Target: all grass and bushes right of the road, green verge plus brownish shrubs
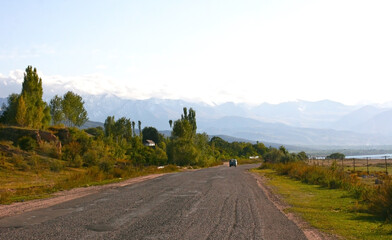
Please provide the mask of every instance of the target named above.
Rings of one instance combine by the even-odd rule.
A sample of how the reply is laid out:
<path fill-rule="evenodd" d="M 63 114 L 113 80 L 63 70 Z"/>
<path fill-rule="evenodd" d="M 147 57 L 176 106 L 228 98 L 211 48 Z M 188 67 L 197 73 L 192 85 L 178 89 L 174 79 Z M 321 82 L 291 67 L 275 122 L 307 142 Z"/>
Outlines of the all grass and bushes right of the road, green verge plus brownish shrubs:
<path fill-rule="evenodd" d="M 288 211 L 300 213 L 313 226 L 347 239 L 390 239 L 391 177 L 377 167 L 354 171 L 353 166 L 341 165 L 343 161 L 348 163 L 288 160 L 283 149 L 275 149 L 255 171 L 292 206 Z"/>

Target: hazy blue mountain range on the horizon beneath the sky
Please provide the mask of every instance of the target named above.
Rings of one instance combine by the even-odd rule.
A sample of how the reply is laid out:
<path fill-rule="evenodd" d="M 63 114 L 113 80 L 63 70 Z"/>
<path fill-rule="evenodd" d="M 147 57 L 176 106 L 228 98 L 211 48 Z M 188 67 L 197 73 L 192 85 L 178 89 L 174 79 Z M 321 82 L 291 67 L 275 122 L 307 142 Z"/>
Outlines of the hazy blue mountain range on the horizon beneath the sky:
<path fill-rule="evenodd" d="M 107 116 L 124 116 L 140 120 L 143 126 L 168 130 L 169 120 L 179 119 L 184 107 L 192 107 L 198 131 L 209 135 L 297 146 L 392 145 L 389 107 L 349 106 L 329 100 L 210 105 L 156 98 L 131 100 L 109 94 L 85 95 L 83 100 L 89 119 L 100 123 Z M 0 98 L 2 102 L 6 99 Z"/>

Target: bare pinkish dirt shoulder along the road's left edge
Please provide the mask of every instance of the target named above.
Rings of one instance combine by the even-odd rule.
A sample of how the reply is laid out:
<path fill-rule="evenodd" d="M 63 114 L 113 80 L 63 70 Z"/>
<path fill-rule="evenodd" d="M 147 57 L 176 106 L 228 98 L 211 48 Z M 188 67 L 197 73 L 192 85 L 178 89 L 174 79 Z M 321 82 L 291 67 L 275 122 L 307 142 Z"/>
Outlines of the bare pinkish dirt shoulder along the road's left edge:
<path fill-rule="evenodd" d="M 131 178 L 122 182 L 111 183 L 111 184 L 106 184 L 101 186 L 74 188 L 71 190 L 57 192 L 53 194 L 53 197 L 47 199 L 37 199 L 37 200 L 32 200 L 27 202 L 17 202 L 10 205 L 0 205 L 0 218 L 14 216 L 23 212 L 29 212 L 40 208 L 51 207 L 53 205 L 62 202 L 84 197 L 106 189 L 124 187 L 138 182 L 157 178 L 162 175 L 164 175 L 164 173 Z"/>

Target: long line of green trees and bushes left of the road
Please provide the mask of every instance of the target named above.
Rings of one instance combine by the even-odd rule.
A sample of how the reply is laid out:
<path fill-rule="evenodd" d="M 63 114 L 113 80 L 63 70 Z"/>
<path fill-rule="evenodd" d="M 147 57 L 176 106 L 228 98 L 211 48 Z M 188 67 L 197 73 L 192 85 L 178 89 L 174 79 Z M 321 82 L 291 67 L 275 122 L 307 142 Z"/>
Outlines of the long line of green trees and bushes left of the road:
<path fill-rule="evenodd" d="M 197 132 L 196 111 L 186 107 L 179 119 L 169 121 L 170 136 L 160 134 L 152 126 L 142 128 L 141 121 L 125 116 L 119 119 L 108 116 L 103 127 L 80 130 L 75 127 L 88 120 L 81 96 L 69 91 L 63 96 L 54 96 L 47 104 L 42 95 L 42 79 L 35 68 L 28 66 L 22 91 L 8 97 L 0 122 L 49 129 L 59 137 L 63 146 L 57 158 L 70 167 L 99 167 L 109 173 L 126 171 L 130 166 L 211 166 L 222 160 L 250 156 L 271 162 L 306 158 L 305 153 L 289 153 L 284 147 L 275 149 L 262 143 L 229 143 L 219 137 L 210 139 L 206 133 Z M 62 133 L 63 128 L 67 134 Z M 155 146 L 146 146 L 147 140 L 155 142 Z"/>

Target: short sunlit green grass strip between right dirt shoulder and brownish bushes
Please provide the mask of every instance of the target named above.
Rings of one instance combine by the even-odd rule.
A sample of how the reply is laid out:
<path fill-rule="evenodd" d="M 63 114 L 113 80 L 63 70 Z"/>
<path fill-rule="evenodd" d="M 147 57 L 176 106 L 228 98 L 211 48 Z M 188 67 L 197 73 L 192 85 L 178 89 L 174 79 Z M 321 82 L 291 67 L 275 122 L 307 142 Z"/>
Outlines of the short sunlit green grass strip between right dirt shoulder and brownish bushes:
<path fill-rule="evenodd" d="M 366 213 L 366 207 L 345 190 L 304 184 L 271 169 L 253 171 L 266 176 L 274 191 L 292 206 L 287 211 L 321 231 L 344 239 L 392 239 L 392 224 Z"/>

